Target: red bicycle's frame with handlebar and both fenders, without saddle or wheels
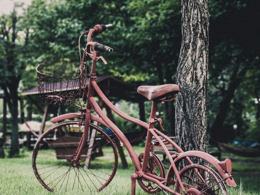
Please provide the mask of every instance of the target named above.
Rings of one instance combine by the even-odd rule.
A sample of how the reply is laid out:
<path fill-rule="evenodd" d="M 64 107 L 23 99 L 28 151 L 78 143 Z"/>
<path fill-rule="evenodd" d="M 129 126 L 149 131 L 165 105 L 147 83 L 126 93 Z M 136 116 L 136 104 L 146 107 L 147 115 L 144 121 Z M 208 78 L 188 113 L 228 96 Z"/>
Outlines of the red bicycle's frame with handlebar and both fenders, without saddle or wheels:
<path fill-rule="evenodd" d="M 91 120 L 94 120 L 98 123 L 101 123 L 105 125 L 106 127 L 110 128 L 111 131 L 117 136 L 117 138 L 121 141 L 121 143 L 125 146 L 127 149 L 131 159 L 132 163 L 134 164 L 136 172 L 132 174 L 131 179 L 132 179 L 132 194 L 135 194 L 135 183 L 136 179 L 145 179 L 147 181 L 153 182 L 156 184 L 159 188 L 168 191 L 173 194 L 180 194 L 174 191 L 173 189 L 170 189 L 168 186 L 164 185 L 164 183 L 168 182 L 168 178 L 170 177 L 169 174 L 175 174 L 176 175 L 176 180 L 179 182 L 179 185 L 181 189 L 183 190 L 184 193 L 186 193 L 185 188 L 183 186 L 183 183 L 181 182 L 180 175 L 178 173 L 177 167 L 176 167 L 176 162 L 186 159 L 189 164 L 192 164 L 192 161 L 189 159 L 189 156 L 198 156 L 206 161 L 208 161 L 210 164 L 212 164 L 216 169 L 219 171 L 221 176 L 223 177 L 223 180 L 227 183 L 228 186 L 236 186 L 235 181 L 232 179 L 232 176 L 230 175 L 231 171 L 231 161 L 222 161 L 220 162 L 217 160 L 215 157 L 200 152 L 200 151 L 188 151 L 184 152 L 175 142 L 173 142 L 170 138 L 168 138 L 166 135 L 164 135 L 162 132 L 158 131 L 157 129 L 154 128 L 154 123 L 158 122 L 155 119 L 155 113 L 157 109 L 157 104 L 158 102 L 153 101 L 152 104 L 152 109 L 151 109 L 151 114 L 149 118 L 149 123 L 145 123 L 141 120 L 138 120 L 136 118 L 133 118 L 131 116 L 128 116 L 124 112 L 120 111 L 117 109 L 105 96 L 105 94 L 102 93 L 101 89 L 98 87 L 95 79 L 96 79 L 96 64 L 99 59 L 102 59 L 104 63 L 106 63 L 105 59 L 103 57 L 98 57 L 98 51 L 94 50 L 94 43 L 92 42 L 92 34 L 98 33 L 101 31 L 100 27 L 98 25 L 95 26 L 92 30 L 88 32 L 88 44 L 85 49 L 86 53 L 91 53 L 91 49 L 95 52 L 93 55 L 89 55 L 89 57 L 92 58 L 92 68 L 91 68 L 91 73 L 89 74 L 89 85 L 88 85 L 88 91 L 87 91 L 87 103 L 86 103 L 86 115 L 85 115 L 85 126 L 84 126 L 84 134 L 83 137 L 81 138 L 80 145 L 77 149 L 76 152 L 76 158 L 74 159 L 74 164 L 73 166 L 77 166 L 77 163 L 80 159 L 80 154 L 84 148 L 84 145 L 87 141 L 88 138 L 88 129 L 89 129 L 89 124 Z M 101 31 L 102 32 L 102 31 Z M 100 33 L 100 32 L 99 32 Z M 82 79 L 84 80 L 84 78 Z M 145 143 L 145 148 L 144 148 L 144 154 L 143 154 L 143 163 L 141 164 L 137 154 L 135 153 L 131 143 L 128 141 L 128 139 L 125 137 L 125 135 L 122 133 L 122 131 L 102 112 L 102 109 L 99 107 L 98 103 L 94 99 L 94 91 L 97 92 L 98 96 L 103 100 L 103 102 L 111 109 L 113 110 L 117 115 L 121 116 L 122 118 L 132 122 L 136 123 L 139 126 L 142 126 L 147 129 L 147 138 L 146 138 L 146 143 Z M 84 94 L 86 91 L 84 91 Z M 85 94 L 86 95 L 86 94 Z M 91 112 L 95 110 L 95 112 L 98 114 L 98 116 L 94 116 L 91 114 Z M 58 116 L 55 117 L 52 122 L 57 122 L 61 119 L 65 118 L 72 118 L 75 116 L 79 116 L 78 114 L 67 114 L 63 116 Z M 166 178 L 162 178 L 156 175 L 153 175 L 151 173 L 147 172 L 147 167 L 148 167 L 148 160 L 150 156 L 150 149 L 151 149 L 151 142 L 152 142 L 152 137 L 155 137 L 159 144 L 162 146 L 162 148 L 165 151 L 165 154 L 168 156 L 168 159 L 170 161 L 170 169 L 167 174 Z M 175 153 L 174 155 L 171 155 L 166 148 L 165 144 L 162 142 L 162 140 L 159 138 L 159 136 L 162 136 L 166 141 L 168 141 L 170 144 L 172 144 L 178 151 L 179 153 Z M 173 160 L 175 158 L 175 160 Z M 201 176 L 200 176 L 201 177 Z M 201 177 L 202 178 L 202 177 Z"/>

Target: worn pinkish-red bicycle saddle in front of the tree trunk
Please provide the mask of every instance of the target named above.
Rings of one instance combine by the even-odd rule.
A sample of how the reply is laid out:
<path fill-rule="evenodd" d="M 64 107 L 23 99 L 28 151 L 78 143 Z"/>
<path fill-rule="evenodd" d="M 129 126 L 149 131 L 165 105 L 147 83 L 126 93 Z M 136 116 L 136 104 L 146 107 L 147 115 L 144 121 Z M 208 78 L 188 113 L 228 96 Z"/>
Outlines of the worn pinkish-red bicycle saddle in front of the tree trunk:
<path fill-rule="evenodd" d="M 163 99 L 167 96 L 177 95 L 179 86 L 175 84 L 166 84 L 158 86 L 139 86 L 137 92 L 148 100 Z"/>

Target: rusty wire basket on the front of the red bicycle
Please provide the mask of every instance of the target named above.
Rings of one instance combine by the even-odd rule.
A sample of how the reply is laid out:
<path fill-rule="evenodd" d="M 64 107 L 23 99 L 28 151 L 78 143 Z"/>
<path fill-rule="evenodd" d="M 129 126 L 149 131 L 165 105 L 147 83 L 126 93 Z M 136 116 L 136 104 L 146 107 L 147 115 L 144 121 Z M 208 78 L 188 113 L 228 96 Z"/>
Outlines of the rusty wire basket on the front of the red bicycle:
<path fill-rule="evenodd" d="M 36 70 L 38 91 L 46 103 L 72 102 L 80 98 L 82 78 L 79 66 L 69 61 L 44 62 Z"/>

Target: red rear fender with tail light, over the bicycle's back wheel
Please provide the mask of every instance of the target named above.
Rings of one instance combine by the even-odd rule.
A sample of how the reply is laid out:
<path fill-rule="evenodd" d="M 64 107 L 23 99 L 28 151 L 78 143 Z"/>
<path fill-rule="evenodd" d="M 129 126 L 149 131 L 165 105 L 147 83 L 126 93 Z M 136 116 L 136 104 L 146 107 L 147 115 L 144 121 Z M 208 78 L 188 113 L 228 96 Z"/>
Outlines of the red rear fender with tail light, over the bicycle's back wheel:
<path fill-rule="evenodd" d="M 222 168 L 222 167 L 224 167 L 223 164 L 226 165 L 227 162 L 231 163 L 231 161 L 229 159 L 225 160 L 225 161 L 219 161 L 217 158 L 215 158 L 214 156 L 211 156 L 208 153 L 205 153 L 205 152 L 202 152 L 202 151 L 191 150 L 191 151 L 187 151 L 187 152 L 184 152 L 184 153 L 180 153 L 176 157 L 176 159 L 174 159 L 174 163 L 178 164 L 180 160 L 182 160 L 186 157 L 189 157 L 189 156 L 195 156 L 195 157 L 199 157 L 203 160 L 206 160 L 207 162 L 212 164 L 217 169 L 217 171 L 220 173 L 220 175 L 225 180 L 225 182 L 228 186 L 236 187 L 236 182 L 235 182 L 234 178 L 232 177 L 232 175 L 230 173 L 228 173 L 227 170 L 224 170 L 224 168 Z M 228 164 L 228 166 L 231 166 L 231 164 Z M 228 170 L 230 170 L 230 168 L 228 168 Z M 168 174 L 169 174 L 169 172 L 168 172 Z M 168 178 L 168 174 L 167 174 L 167 178 Z"/>

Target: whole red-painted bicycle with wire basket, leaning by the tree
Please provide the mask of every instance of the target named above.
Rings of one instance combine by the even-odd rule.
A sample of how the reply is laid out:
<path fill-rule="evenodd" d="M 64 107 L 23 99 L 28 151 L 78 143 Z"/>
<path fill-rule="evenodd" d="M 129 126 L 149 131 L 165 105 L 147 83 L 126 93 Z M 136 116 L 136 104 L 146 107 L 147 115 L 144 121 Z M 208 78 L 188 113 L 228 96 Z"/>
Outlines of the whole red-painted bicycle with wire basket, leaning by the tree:
<path fill-rule="evenodd" d="M 100 51 L 111 53 L 113 49 L 93 42 L 92 38 L 108 26 L 110 25 L 96 25 L 82 34 L 87 35 L 87 46 L 84 49 L 84 57 L 80 57 L 79 75 L 73 81 L 58 84 L 45 82 L 44 78 L 48 75 L 44 73 L 43 64 L 37 67 L 39 92 L 47 101 L 62 102 L 82 98 L 86 102 L 85 106 L 80 106 L 80 113 L 69 113 L 52 119 L 53 123 L 59 123 L 39 137 L 32 156 L 33 170 L 39 182 L 50 191 L 101 191 L 116 173 L 116 146 L 121 143 L 135 167 L 135 173 L 131 175 L 132 194 L 135 194 L 136 180 L 145 192 L 151 194 L 159 191 L 179 195 L 228 194 L 225 183 L 227 186 L 236 186 L 230 174 L 231 160 L 219 161 L 201 151 L 184 152 L 173 140 L 154 128 L 155 123 L 161 127 L 162 122 L 156 118 L 157 105 L 176 100 L 179 92 L 177 85 L 139 86 L 138 93 L 153 101 L 148 123 L 121 112 L 102 93 L 96 83 L 96 64 L 99 59 L 106 64 L 105 59 L 99 56 Z M 90 73 L 87 73 L 87 59 L 92 60 Z M 147 129 L 143 153 L 136 154 L 122 131 L 102 111 L 94 94 L 98 94 L 103 102 L 122 118 Z M 60 122 L 72 118 L 77 120 Z M 97 126 L 98 123 L 110 132 Z M 169 144 L 176 149 L 175 152 L 168 150 Z M 154 145 L 162 147 L 169 159 L 169 167 L 164 166 L 153 153 L 151 146 Z M 206 164 L 194 164 L 191 159 L 195 158 L 204 160 Z M 184 163 L 186 166 L 178 171 L 179 165 Z"/>

